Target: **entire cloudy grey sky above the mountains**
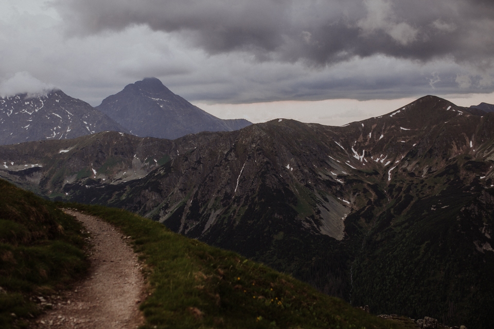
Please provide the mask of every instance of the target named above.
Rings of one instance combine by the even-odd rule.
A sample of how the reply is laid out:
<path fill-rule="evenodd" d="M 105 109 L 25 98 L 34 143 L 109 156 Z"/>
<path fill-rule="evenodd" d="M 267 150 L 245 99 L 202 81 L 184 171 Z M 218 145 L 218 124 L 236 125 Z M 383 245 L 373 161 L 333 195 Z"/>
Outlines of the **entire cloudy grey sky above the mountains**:
<path fill-rule="evenodd" d="M 223 118 L 343 124 L 494 103 L 492 0 L 0 0 L 0 94 L 145 77 Z"/>

